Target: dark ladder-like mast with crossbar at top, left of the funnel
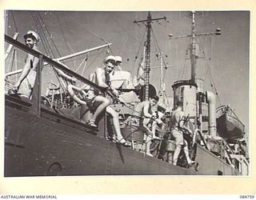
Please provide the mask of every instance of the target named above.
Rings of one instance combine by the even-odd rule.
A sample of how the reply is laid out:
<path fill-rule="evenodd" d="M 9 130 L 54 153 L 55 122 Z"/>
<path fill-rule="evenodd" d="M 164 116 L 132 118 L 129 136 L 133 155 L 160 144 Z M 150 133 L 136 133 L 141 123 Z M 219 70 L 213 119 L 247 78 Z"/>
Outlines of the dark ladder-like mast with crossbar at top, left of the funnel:
<path fill-rule="evenodd" d="M 148 12 L 147 19 L 146 20 L 139 20 L 139 21 L 134 21 L 134 23 L 139 23 L 139 22 L 146 22 L 146 66 L 144 67 L 144 84 L 145 84 L 145 90 L 143 94 L 144 100 L 149 100 L 149 85 L 150 85 L 150 38 L 151 38 L 151 23 L 154 21 L 158 21 L 164 18 L 152 18 L 150 12 Z"/>

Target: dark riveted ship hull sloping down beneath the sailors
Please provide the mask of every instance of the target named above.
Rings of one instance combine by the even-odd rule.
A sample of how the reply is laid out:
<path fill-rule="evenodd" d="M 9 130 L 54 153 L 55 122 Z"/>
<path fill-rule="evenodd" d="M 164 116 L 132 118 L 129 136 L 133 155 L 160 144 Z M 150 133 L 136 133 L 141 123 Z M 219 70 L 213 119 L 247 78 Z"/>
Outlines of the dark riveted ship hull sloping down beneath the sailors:
<path fill-rule="evenodd" d="M 22 101 L 21 101 L 22 102 Z M 16 106 L 15 106 L 16 105 Z M 223 160 L 197 148 L 198 170 L 173 166 L 89 133 L 82 124 L 42 108 L 6 99 L 6 177 L 54 175 L 234 175 Z"/>

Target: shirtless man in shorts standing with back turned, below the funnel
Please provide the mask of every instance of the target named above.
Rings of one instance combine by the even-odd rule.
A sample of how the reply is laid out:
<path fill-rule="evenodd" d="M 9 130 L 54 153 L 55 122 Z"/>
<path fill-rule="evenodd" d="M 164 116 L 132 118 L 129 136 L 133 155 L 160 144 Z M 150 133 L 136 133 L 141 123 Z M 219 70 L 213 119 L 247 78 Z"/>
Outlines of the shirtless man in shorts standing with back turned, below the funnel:
<path fill-rule="evenodd" d="M 189 131 L 190 133 L 191 133 L 191 130 L 186 128 L 186 126 L 184 125 L 183 119 L 185 118 L 185 116 L 182 111 L 182 106 L 183 106 L 182 102 L 177 102 L 176 106 L 177 106 L 176 110 L 174 110 L 170 116 L 170 122 L 172 124 L 170 133 L 175 138 L 175 144 L 176 144 L 176 147 L 174 150 L 173 164 L 174 164 L 174 166 L 177 165 L 178 155 L 180 154 L 180 152 L 182 150 L 182 146 L 184 146 L 183 150 L 184 150 L 184 154 L 186 156 L 186 161 L 190 165 L 193 162 L 190 159 L 187 142 L 183 138 L 182 129 L 185 129 L 185 130 Z"/>

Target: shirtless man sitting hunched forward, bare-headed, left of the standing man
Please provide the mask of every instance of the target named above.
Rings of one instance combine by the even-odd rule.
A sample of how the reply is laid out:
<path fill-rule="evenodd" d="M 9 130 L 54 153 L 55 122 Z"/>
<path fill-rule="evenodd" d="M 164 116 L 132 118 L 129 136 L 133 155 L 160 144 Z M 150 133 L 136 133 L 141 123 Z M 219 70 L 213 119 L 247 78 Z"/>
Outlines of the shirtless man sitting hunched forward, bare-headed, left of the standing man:
<path fill-rule="evenodd" d="M 155 118 L 152 114 L 152 106 L 156 105 L 158 100 L 158 96 L 154 95 L 152 98 L 150 98 L 150 101 L 139 102 L 138 105 L 135 106 L 134 112 L 130 119 L 132 131 L 142 130 L 144 133 L 146 133 L 146 154 L 151 157 L 153 157 L 153 155 L 150 154 L 150 144 L 151 139 L 155 138 L 155 135 L 149 129 L 148 124 L 150 119 L 155 120 L 158 124 L 162 124 L 161 119 Z"/>

